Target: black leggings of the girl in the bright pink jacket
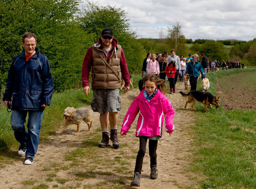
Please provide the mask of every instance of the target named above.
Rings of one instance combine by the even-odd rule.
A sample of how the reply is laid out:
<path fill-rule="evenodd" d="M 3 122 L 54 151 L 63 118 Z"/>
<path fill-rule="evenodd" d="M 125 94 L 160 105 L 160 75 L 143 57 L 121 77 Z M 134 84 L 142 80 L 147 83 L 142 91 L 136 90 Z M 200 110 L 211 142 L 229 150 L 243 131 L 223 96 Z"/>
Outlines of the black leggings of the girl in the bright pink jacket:
<path fill-rule="evenodd" d="M 143 158 L 146 152 L 146 145 L 147 145 L 147 136 L 140 136 L 140 150 L 138 151 L 136 164 L 134 172 L 140 172 L 142 169 Z M 149 156 L 150 156 L 150 165 L 157 164 L 157 142 L 158 140 L 150 140 L 148 141 L 148 149 L 149 149 Z"/>

